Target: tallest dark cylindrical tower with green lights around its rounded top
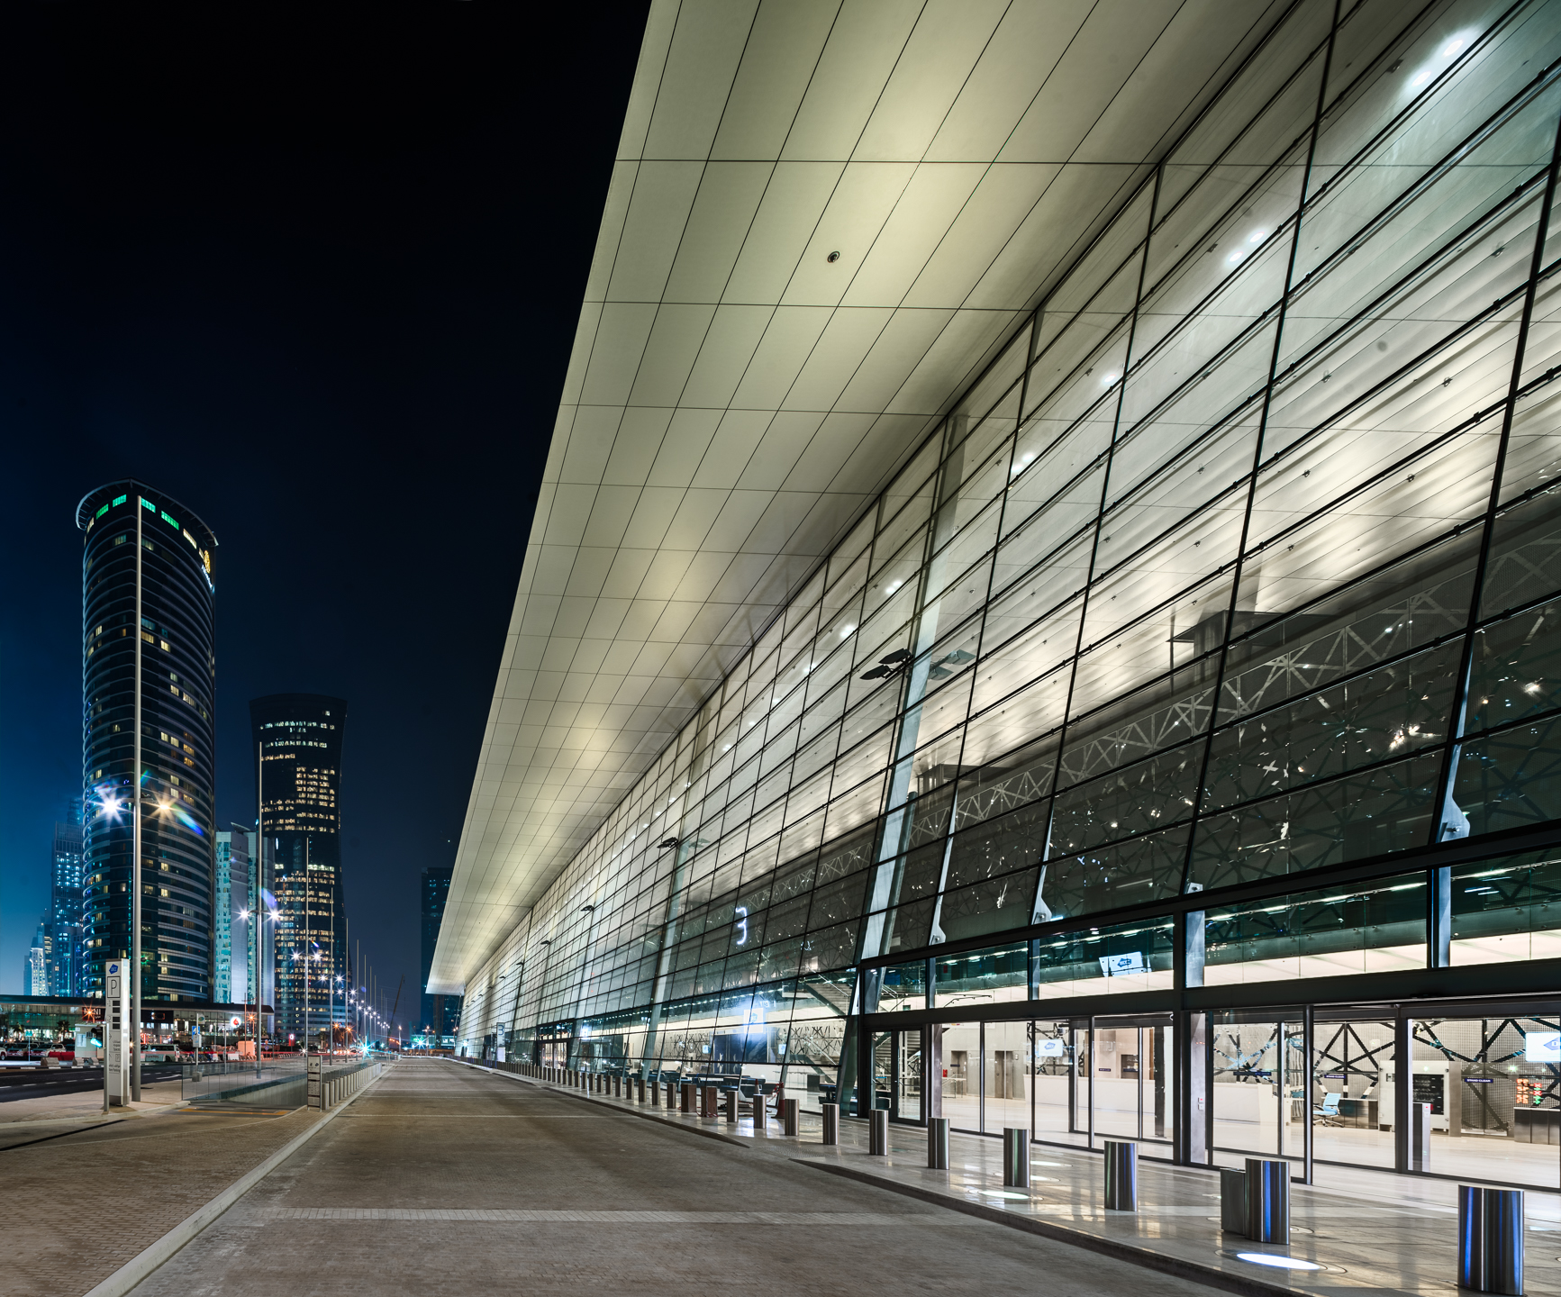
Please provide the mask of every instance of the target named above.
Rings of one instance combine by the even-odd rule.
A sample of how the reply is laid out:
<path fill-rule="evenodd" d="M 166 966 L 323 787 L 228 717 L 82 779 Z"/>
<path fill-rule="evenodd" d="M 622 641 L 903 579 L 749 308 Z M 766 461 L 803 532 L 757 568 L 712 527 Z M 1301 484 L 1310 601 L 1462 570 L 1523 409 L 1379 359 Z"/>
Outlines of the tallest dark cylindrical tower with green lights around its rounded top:
<path fill-rule="evenodd" d="M 76 526 L 86 537 L 83 991 L 101 994 L 103 961 L 131 954 L 139 827 L 142 999 L 204 1000 L 217 538 L 176 499 L 136 481 L 89 492 Z"/>

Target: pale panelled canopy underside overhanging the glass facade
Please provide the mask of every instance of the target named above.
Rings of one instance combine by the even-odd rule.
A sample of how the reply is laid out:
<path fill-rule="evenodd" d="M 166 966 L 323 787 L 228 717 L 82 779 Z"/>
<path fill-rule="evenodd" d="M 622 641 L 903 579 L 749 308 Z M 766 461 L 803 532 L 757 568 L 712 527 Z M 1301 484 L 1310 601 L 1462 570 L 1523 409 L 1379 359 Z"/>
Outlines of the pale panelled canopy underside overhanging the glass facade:
<path fill-rule="evenodd" d="M 465 991 L 1282 11 L 656 0 L 429 993 Z"/>

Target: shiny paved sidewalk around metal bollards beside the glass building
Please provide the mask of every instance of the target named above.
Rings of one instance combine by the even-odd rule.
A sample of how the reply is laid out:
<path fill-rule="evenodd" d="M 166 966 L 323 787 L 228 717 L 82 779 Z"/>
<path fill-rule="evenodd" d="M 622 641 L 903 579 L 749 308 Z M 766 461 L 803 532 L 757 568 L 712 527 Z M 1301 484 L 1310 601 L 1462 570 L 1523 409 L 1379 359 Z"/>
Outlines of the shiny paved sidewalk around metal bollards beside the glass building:
<path fill-rule="evenodd" d="M 816 1114 L 804 1114 L 801 1135 L 785 1138 L 773 1118 L 756 1132 L 746 1116 L 735 1124 L 724 1118 L 684 1116 L 510 1072 L 495 1075 L 587 1103 L 628 1108 L 652 1121 L 745 1144 L 763 1158 L 799 1161 L 821 1174 L 891 1188 L 1091 1250 L 1135 1256 L 1154 1269 L 1200 1277 L 1222 1288 L 1314 1294 L 1371 1288 L 1424 1294 L 1456 1286 L 1456 1183 L 1449 1180 L 1333 1167 L 1327 1186 L 1293 1186 L 1288 1247 L 1252 1244 L 1221 1233 L 1219 1177 L 1207 1169 L 1141 1160 L 1140 1210 L 1105 1211 L 1101 1206 L 1104 1161 L 1082 1149 L 1032 1144 L 1030 1189 L 1005 1189 L 1002 1141 L 996 1138 L 951 1135 L 951 1169 L 930 1171 L 921 1127 L 891 1125 L 888 1157 L 869 1157 L 866 1122 L 862 1121 L 843 1119 L 841 1142 L 826 1147 Z M 1561 1297 L 1561 1200 L 1556 1194 L 1530 1192 L 1527 1216 L 1527 1292 Z M 1243 1260 L 1243 1253 L 1319 1269 L 1283 1269 Z"/>

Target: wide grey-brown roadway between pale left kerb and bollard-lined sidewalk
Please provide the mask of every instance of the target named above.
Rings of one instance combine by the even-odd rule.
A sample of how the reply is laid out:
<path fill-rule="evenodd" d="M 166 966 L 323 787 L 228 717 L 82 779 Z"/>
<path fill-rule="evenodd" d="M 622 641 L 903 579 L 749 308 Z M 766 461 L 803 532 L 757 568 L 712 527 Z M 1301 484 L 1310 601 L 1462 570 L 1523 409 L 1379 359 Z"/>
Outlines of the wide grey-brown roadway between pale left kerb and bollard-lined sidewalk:
<path fill-rule="evenodd" d="M 1193 1283 L 567 1094 L 406 1060 L 136 1297 L 980 1292 Z"/>

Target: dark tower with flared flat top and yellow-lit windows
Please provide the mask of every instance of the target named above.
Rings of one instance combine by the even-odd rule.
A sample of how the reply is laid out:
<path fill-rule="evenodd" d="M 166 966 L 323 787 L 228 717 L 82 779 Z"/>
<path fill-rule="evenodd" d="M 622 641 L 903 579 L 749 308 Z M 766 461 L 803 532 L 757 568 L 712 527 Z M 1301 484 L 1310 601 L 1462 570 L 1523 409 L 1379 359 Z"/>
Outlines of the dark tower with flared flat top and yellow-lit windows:
<path fill-rule="evenodd" d="M 318 1036 L 328 1021 L 347 1021 L 340 815 L 347 702 L 318 693 L 256 698 L 250 724 L 261 833 L 276 858 L 276 1032 L 303 1041 L 306 1033 Z"/>

